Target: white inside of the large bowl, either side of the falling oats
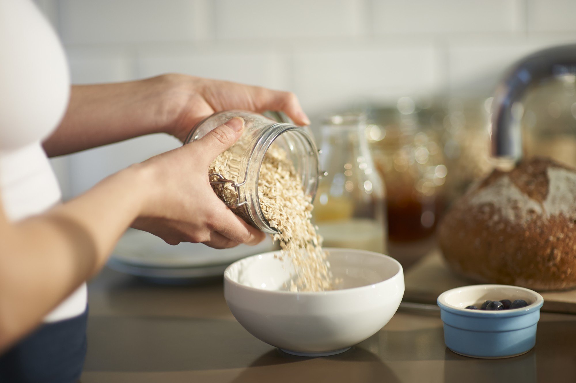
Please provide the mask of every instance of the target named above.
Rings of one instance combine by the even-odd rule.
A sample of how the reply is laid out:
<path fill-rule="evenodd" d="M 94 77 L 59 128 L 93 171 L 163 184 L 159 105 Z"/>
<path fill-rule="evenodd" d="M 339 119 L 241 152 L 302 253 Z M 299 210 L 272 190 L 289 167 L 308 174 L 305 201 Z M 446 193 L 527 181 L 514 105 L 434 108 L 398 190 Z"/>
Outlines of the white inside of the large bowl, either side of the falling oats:
<path fill-rule="evenodd" d="M 330 270 L 340 282 L 336 290 L 376 284 L 401 271 L 395 259 L 372 251 L 327 248 Z M 287 291 L 294 269 L 289 259 L 275 258 L 279 251 L 249 256 L 230 265 L 225 278 L 256 289 Z"/>

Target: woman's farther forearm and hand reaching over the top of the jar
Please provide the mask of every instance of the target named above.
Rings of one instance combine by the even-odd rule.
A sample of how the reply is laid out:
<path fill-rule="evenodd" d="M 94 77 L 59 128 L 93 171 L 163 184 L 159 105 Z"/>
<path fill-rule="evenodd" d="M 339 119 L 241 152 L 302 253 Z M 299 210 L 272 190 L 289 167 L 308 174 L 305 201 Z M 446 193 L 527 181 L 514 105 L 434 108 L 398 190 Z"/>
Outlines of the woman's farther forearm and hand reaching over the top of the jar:
<path fill-rule="evenodd" d="M 282 110 L 297 124 L 310 123 L 293 93 L 168 74 L 73 86 L 66 114 L 44 150 L 58 156 L 162 132 L 183 141 L 196 122 L 230 109 Z"/>

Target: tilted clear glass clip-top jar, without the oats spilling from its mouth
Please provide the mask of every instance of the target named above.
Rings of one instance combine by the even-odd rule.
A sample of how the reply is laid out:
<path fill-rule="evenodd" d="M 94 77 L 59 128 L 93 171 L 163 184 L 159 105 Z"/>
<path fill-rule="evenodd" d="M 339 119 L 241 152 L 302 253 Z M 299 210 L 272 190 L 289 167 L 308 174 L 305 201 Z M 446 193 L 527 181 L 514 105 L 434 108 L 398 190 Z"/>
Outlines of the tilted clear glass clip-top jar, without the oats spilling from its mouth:
<path fill-rule="evenodd" d="M 221 174 L 211 173 L 210 183 L 217 185 L 214 189 L 218 197 L 247 223 L 263 232 L 278 233 L 264 216 L 258 197 L 258 178 L 264 155 L 271 145 L 278 145 L 286 151 L 300 176 L 305 196 L 313 200 L 320 174 L 316 144 L 308 129 L 287 122 L 289 120 L 282 114 L 276 113 L 275 117 L 284 121 L 278 122 L 243 110 L 218 112 L 199 122 L 184 144 L 202 138 L 233 117 L 244 118 L 244 132 L 228 149 L 231 154 L 228 163 L 230 175 L 225 178 Z"/>

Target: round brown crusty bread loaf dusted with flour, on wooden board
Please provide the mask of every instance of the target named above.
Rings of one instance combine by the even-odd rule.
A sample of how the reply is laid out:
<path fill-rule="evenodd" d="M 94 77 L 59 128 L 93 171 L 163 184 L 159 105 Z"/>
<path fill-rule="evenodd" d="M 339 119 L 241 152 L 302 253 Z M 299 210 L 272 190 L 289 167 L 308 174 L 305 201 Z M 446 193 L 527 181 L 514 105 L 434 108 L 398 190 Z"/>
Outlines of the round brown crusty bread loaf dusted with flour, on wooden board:
<path fill-rule="evenodd" d="M 576 287 L 576 169 L 551 159 L 494 170 L 438 227 L 450 268 L 482 283 Z"/>

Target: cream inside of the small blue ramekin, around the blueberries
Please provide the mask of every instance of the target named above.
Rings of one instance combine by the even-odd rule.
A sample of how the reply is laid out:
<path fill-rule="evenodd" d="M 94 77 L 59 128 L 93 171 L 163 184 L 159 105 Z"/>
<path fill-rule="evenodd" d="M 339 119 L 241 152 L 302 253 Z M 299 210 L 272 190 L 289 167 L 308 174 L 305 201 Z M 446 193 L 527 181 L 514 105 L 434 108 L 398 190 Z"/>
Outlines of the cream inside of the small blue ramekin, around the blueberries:
<path fill-rule="evenodd" d="M 445 305 L 464 309 L 469 305 L 480 307 L 487 300 L 498 301 L 503 299 L 509 299 L 510 301 L 523 299 L 528 305 L 532 305 L 541 301 L 542 297 L 532 290 L 518 286 L 473 285 L 448 290 L 441 294 L 438 301 Z"/>

